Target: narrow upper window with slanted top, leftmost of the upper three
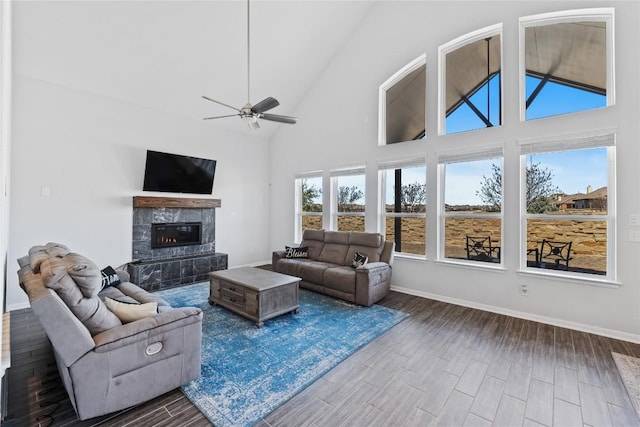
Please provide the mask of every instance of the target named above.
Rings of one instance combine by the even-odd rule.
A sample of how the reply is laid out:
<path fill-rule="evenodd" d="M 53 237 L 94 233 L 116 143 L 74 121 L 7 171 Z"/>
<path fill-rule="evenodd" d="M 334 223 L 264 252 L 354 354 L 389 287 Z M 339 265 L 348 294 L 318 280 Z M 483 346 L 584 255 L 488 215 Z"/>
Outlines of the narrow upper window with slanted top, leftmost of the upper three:
<path fill-rule="evenodd" d="M 425 138 L 426 55 L 380 86 L 379 145 Z"/>

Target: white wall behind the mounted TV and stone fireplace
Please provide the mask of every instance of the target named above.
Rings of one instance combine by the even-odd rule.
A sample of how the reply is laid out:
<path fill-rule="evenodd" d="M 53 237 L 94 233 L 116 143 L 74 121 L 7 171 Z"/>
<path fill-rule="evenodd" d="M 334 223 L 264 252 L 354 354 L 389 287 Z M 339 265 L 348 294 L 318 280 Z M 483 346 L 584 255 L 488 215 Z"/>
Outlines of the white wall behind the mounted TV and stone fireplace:
<path fill-rule="evenodd" d="M 147 149 L 218 160 L 216 250 L 230 266 L 269 259 L 268 141 L 21 74 L 13 87 L 9 271 L 49 241 L 98 266 L 130 261 L 132 197 L 143 195 Z M 8 278 L 7 302 L 20 307 L 17 276 Z"/>

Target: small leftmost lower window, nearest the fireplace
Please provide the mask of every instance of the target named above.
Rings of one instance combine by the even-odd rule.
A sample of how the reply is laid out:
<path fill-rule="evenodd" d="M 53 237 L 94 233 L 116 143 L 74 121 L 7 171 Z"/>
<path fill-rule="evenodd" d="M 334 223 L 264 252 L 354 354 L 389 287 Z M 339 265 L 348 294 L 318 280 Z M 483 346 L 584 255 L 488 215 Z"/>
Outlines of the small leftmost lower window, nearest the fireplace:
<path fill-rule="evenodd" d="M 296 179 L 296 241 L 302 240 L 307 228 L 322 228 L 322 176 L 309 175 Z"/>

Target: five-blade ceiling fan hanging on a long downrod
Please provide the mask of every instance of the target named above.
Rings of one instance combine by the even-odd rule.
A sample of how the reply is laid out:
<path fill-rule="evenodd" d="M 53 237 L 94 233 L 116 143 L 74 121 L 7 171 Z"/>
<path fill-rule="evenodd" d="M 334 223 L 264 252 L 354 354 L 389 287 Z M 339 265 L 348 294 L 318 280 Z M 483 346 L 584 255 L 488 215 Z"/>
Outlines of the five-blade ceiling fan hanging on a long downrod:
<path fill-rule="evenodd" d="M 287 124 L 295 124 L 298 121 L 297 117 L 291 116 L 282 116 L 280 114 L 270 114 L 267 111 L 277 107 L 280 105 L 277 99 L 272 97 L 267 97 L 262 101 L 258 102 L 256 105 L 251 105 L 251 92 L 250 92 L 250 78 L 251 78 L 251 44 L 250 44 L 250 25 L 249 25 L 249 0 L 247 0 L 247 103 L 242 108 L 232 107 L 231 105 L 225 104 L 224 102 L 216 101 L 215 99 L 203 96 L 207 101 L 215 102 L 216 104 L 224 105 L 225 107 L 231 108 L 232 110 L 237 111 L 237 114 L 229 114 L 225 116 L 216 116 L 216 117 L 206 117 L 204 120 L 211 119 L 222 119 L 225 117 L 234 117 L 239 116 L 242 120 L 246 121 L 249 124 L 249 128 L 251 130 L 258 129 L 260 124 L 258 123 L 258 119 L 269 120 L 272 122 L 279 123 L 287 123 Z"/>

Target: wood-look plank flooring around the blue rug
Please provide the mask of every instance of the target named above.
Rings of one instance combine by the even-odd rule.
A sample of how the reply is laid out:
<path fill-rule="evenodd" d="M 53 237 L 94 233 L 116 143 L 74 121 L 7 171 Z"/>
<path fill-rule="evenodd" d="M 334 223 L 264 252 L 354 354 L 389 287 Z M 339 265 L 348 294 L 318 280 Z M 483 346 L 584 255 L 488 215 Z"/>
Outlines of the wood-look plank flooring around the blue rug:
<path fill-rule="evenodd" d="M 392 292 L 410 317 L 262 420 L 264 426 L 640 426 L 611 351 L 640 345 Z M 78 421 L 30 310 L 11 314 L 5 424 L 204 426 L 179 391 Z"/>

